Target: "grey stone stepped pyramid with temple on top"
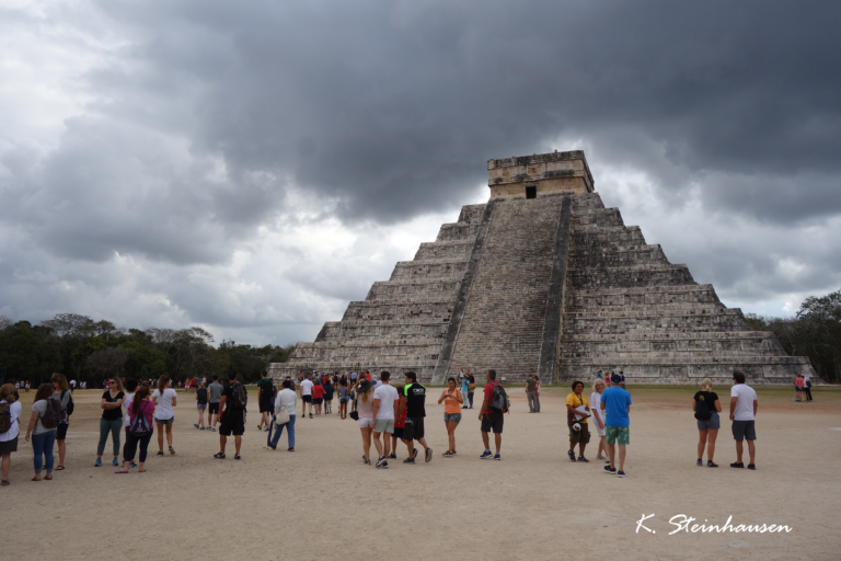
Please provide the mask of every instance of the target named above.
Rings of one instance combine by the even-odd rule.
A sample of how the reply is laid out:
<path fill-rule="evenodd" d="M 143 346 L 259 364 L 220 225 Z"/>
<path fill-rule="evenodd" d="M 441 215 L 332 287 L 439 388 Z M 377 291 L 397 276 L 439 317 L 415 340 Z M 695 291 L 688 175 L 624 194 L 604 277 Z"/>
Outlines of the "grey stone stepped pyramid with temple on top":
<path fill-rule="evenodd" d="M 631 382 L 729 383 L 734 370 L 751 383 L 791 383 L 797 371 L 817 379 L 808 358 L 752 331 L 712 285 L 604 208 L 583 151 L 487 169 L 486 204 L 462 207 L 272 375 L 413 370 L 442 383 L 464 366 L 508 382 L 591 379 L 599 369 Z"/>

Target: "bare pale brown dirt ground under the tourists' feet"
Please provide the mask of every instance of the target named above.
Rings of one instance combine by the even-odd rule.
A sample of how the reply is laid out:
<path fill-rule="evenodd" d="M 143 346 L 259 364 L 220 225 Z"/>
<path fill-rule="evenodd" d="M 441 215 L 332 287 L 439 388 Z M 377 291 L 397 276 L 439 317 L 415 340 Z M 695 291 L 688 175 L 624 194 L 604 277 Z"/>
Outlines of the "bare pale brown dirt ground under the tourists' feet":
<path fill-rule="evenodd" d="M 285 436 L 284 451 L 266 449 L 266 433 L 250 413 L 243 459 L 234 461 L 229 448 L 228 459 L 215 460 L 218 435 L 193 428 L 193 398 L 180 394 L 177 454 L 150 455 L 149 471 L 129 476 L 93 467 L 101 392 L 77 391 L 67 470 L 34 483 L 23 437 L 12 455 L 12 484 L 0 488 L 0 551 L 10 561 L 839 559 L 839 388 L 815 389 L 809 404 L 795 403 L 787 388 L 759 388 L 757 471 L 727 467 L 735 461 L 729 422 L 715 455 L 722 467 L 695 467 L 693 388 L 629 389 L 624 479 L 603 473 L 592 443 L 590 463 L 566 458 L 566 388 L 545 388 L 540 414 L 528 414 L 522 388 L 509 390 L 502 461 L 479 459 L 477 409 L 457 431 L 458 457 L 441 458 L 447 433 L 442 407 L 434 404 L 440 389 L 430 389 L 426 431 L 435 458 L 392 460 L 388 470 L 362 466 L 359 430 L 335 414 L 299 414 L 296 451 L 287 453 Z M 24 412 L 32 396 L 22 396 Z M 401 460 L 405 454 L 400 449 Z M 650 514 L 645 526 L 656 534 L 637 533 L 637 520 Z M 718 525 L 731 515 L 734 525 L 792 531 L 669 535 L 676 515 Z"/>

